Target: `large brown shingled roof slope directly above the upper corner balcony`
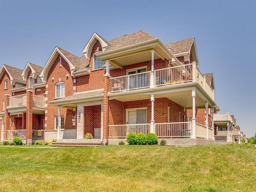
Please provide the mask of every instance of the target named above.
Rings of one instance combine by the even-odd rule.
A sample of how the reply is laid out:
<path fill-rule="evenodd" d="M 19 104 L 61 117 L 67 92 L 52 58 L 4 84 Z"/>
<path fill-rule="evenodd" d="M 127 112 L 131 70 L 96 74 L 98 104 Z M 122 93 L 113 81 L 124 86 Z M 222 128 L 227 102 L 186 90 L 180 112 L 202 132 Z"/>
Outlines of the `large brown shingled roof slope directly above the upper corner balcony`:
<path fill-rule="evenodd" d="M 144 42 L 144 41 L 155 39 L 155 38 L 156 37 L 152 36 L 146 31 L 140 30 L 135 33 L 126 34 L 121 37 L 116 37 L 108 41 L 110 44 L 110 47 L 106 48 L 106 51 L 115 50 L 125 46 L 138 44 L 139 42 Z"/>

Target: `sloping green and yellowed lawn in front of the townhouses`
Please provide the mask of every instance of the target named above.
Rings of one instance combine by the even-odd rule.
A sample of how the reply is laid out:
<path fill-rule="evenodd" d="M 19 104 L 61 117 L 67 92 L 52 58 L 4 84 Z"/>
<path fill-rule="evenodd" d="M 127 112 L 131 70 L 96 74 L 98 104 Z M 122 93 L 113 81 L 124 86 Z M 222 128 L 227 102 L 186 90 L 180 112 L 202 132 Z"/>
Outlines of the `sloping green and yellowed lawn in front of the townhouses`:
<path fill-rule="evenodd" d="M 248 145 L 0 146 L 0 191 L 255 191 Z"/>

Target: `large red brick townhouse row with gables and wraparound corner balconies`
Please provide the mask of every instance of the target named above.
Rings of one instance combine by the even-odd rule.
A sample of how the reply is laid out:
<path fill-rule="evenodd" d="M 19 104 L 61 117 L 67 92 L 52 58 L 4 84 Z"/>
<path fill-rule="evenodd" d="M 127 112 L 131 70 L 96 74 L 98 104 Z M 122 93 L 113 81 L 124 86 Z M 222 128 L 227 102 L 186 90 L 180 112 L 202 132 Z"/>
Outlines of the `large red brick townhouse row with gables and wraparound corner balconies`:
<path fill-rule="evenodd" d="M 200 71 L 195 38 L 94 33 L 82 56 L 55 47 L 44 68 L 3 65 L 0 79 L 1 140 L 82 143 L 91 133 L 90 142 L 117 144 L 142 132 L 168 144 L 214 142 L 214 78 Z"/>

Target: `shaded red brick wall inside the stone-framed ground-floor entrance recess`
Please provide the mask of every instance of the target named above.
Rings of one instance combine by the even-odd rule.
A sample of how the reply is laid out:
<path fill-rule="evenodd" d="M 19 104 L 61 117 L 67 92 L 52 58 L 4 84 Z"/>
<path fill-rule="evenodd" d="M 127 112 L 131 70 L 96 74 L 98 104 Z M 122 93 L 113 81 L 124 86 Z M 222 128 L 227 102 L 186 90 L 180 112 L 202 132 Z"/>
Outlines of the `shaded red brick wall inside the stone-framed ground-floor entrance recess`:
<path fill-rule="evenodd" d="M 91 133 L 101 126 L 101 105 L 84 106 L 84 134 Z"/>

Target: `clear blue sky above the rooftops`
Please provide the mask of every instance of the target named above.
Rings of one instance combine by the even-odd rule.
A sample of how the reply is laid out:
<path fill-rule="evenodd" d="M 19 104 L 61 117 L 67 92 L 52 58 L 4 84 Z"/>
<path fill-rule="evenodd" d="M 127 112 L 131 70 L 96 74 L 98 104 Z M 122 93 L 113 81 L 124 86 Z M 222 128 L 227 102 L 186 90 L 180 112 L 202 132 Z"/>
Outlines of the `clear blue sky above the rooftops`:
<path fill-rule="evenodd" d="M 255 1 L 0 0 L 0 63 L 44 66 L 55 46 L 78 56 L 93 32 L 140 29 L 173 42 L 195 37 L 201 70 L 214 72 L 216 101 L 247 136 L 256 132 Z"/>

